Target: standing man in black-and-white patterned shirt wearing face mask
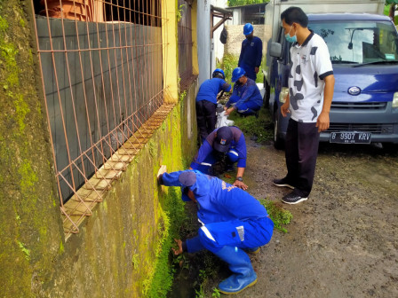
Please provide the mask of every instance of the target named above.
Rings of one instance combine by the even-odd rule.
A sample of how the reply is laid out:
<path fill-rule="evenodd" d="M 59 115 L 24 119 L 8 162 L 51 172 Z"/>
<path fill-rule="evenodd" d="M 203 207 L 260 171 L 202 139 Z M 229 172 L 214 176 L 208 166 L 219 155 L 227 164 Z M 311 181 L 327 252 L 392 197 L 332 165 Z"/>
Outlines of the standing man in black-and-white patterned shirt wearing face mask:
<path fill-rule="evenodd" d="M 289 94 L 281 106 L 283 117 L 289 113 L 291 119 L 285 139 L 288 173 L 274 184 L 293 189 L 282 201 L 297 204 L 307 200 L 313 186 L 320 132 L 329 128 L 334 76 L 328 46 L 307 28 L 306 13 L 290 7 L 281 20 L 286 40 L 293 43 Z"/>

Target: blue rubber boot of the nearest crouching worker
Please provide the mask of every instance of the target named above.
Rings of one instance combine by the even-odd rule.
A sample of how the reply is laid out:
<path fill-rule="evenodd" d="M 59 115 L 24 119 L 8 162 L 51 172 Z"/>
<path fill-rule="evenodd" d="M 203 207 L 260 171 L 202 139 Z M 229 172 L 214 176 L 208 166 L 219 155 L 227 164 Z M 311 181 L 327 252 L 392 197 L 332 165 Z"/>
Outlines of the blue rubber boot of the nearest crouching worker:
<path fill-rule="evenodd" d="M 253 286 L 257 282 L 257 274 L 251 266 L 251 259 L 242 249 L 222 247 L 214 255 L 227 262 L 229 270 L 234 273 L 219 283 L 219 292 L 223 294 L 238 294 L 246 287 Z"/>

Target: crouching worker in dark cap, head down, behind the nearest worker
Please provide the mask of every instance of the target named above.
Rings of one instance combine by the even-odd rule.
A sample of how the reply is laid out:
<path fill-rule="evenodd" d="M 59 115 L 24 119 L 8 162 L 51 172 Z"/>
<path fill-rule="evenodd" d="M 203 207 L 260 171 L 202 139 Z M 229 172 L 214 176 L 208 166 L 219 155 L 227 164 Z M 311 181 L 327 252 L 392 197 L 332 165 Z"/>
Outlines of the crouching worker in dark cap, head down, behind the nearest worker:
<path fill-rule="evenodd" d="M 203 174 L 214 175 L 213 167 L 218 161 L 226 159 L 225 170 L 232 171 L 237 162 L 237 174 L 234 185 L 247 190 L 243 183 L 246 168 L 246 141 L 241 129 L 235 126 L 223 126 L 214 129 L 203 141 L 198 153 L 192 161 L 190 169 L 197 169 Z"/>

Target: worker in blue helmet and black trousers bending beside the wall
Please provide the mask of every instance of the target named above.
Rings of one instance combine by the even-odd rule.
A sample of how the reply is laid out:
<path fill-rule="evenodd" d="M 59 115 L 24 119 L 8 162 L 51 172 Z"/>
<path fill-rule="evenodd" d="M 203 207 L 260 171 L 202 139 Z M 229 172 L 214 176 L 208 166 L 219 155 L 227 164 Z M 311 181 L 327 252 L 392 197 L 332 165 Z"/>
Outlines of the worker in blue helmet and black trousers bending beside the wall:
<path fill-rule="evenodd" d="M 231 85 L 225 81 L 224 71 L 217 68 L 210 80 L 204 81 L 196 95 L 196 122 L 199 136 L 203 141 L 216 128 L 217 95 L 219 92 L 231 90 Z"/>

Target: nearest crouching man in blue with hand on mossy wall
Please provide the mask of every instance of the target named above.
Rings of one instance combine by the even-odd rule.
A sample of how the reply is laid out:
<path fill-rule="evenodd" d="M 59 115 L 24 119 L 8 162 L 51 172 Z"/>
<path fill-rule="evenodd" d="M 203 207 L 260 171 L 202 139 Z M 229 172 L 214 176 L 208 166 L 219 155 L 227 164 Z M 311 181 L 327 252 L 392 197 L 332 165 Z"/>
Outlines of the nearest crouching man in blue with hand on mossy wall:
<path fill-rule="evenodd" d="M 174 255 L 208 249 L 227 262 L 233 274 L 219 283 L 223 294 L 237 294 L 253 286 L 257 274 L 243 250 L 256 252 L 271 239 L 274 223 L 266 208 L 248 192 L 195 170 L 169 174 L 161 169 L 158 180 L 166 186 L 180 186 L 182 200 L 197 204 L 197 217 L 203 224 L 195 238 L 176 239 L 179 248 L 173 249 Z"/>

